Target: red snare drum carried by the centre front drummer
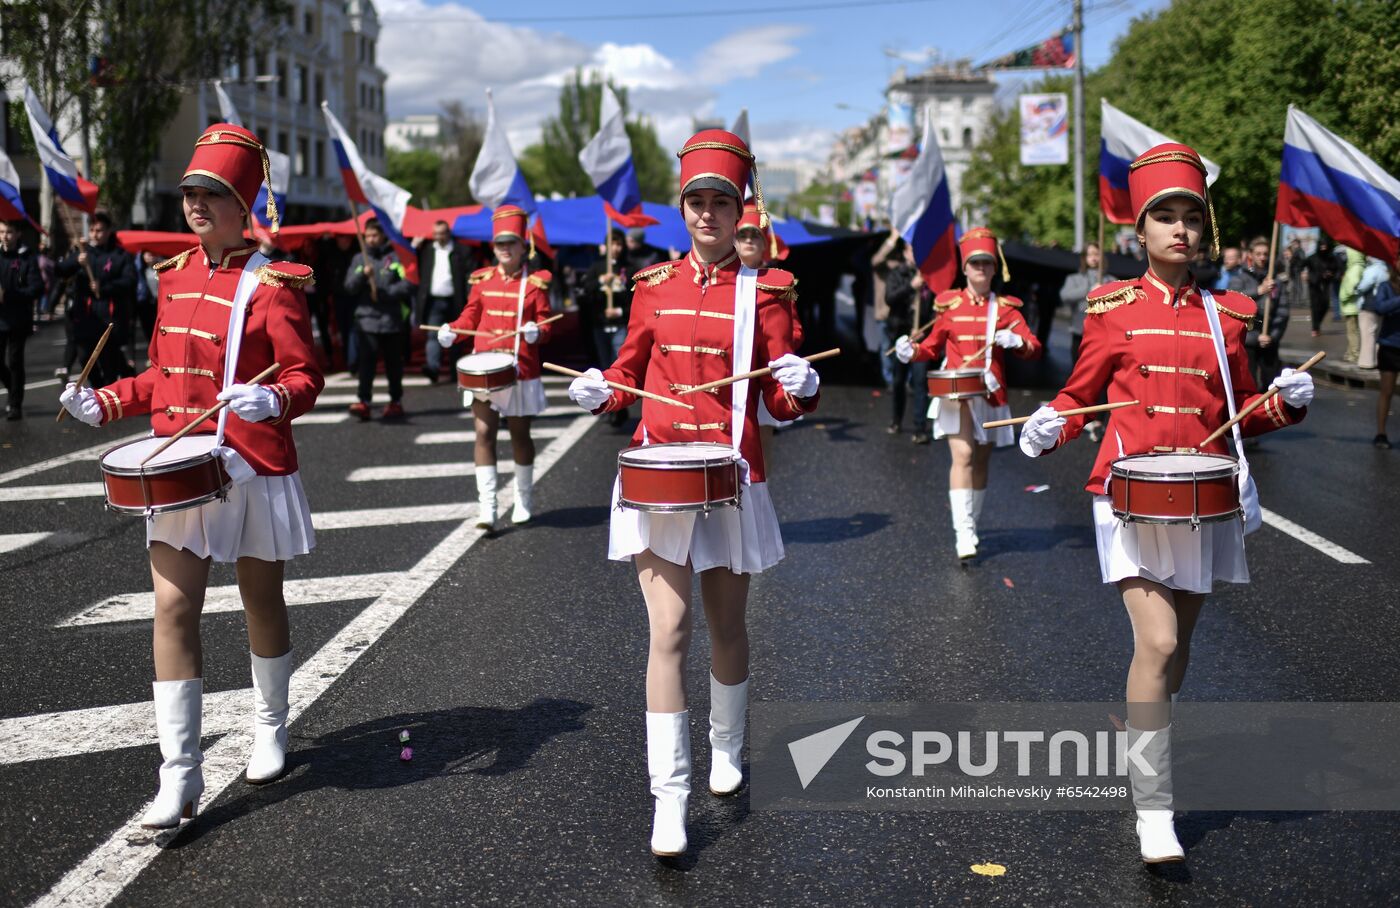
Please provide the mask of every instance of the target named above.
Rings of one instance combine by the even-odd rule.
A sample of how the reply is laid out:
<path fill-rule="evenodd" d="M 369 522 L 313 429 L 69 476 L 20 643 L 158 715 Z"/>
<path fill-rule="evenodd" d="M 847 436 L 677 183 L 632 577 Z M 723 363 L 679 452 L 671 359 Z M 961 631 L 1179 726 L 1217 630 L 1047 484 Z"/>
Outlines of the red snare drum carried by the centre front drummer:
<path fill-rule="evenodd" d="M 617 455 L 617 504 L 676 513 L 739 505 L 739 455 L 729 445 L 672 442 Z"/>

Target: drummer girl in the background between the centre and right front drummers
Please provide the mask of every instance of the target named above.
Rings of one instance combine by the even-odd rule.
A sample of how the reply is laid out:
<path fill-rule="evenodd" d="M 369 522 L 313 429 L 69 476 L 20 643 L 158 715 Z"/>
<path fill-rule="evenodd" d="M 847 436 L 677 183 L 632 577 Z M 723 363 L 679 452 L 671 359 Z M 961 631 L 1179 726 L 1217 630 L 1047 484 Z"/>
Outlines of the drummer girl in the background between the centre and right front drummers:
<path fill-rule="evenodd" d="M 977 555 L 977 519 L 987 497 L 991 449 L 1015 441 L 1011 427 L 986 430 L 983 423 L 1011 416 L 1007 407 L 1005 354 L 1035 360 L 1042 354 L 1040 341 L 1026 327 L 1021 301 L 991 290 L 1001 263 L 1008 280 L 1001 243 L 986 227 L 974 227 L 958 241 L 967 287 L 948 290 L 934 299 L 934 327 L 918 344 L 903 336 L 895 341 L 900 362 L 920 362 L 944 357 L 942 368 L 980 369 L 980 388 L 986 393 L 948 399 L 937 395 L 928 404 L 934 438 L 948 438 L 952 467 L 948 470 L 948 506 L 952 511 L 953 539 L 959 558 Z M 934 378 L 930 375 L 930 378 Z M 977 381 L 976 376 L 970 376 Z"/>

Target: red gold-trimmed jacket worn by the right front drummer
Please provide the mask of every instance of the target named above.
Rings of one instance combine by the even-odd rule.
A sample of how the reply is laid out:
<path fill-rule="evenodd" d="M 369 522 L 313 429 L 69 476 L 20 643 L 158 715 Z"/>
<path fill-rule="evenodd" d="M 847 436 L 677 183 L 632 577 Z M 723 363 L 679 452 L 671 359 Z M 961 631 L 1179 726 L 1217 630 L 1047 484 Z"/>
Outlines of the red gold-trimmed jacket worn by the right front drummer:
<path fill-rule="evenodd" d="M 1236 413 L 1259 397 L 1245 353 L 1245 332 L 1254 301 L 1233 291 L 1212 291 L 1225 340 Z M 1152 271 L 1131 281 L 1093 290 L 1084 320 L 1084 343 L 1070 382 L 1050 402 L 1056 410 L 1089 407 L 1107 389 L 1109 403 L 1140 400 L 1113 410 L 1085 490 L 1107 494 L 1109 467 L 1121 456 L 1187 452 L 1228 453 L 1229 435 L 1200 446 L 1229 420 L 1205 301 L 1194 283 L 1173 291 Z M 1274 396 L 1245 417 L 1245 435 L 1292 425 L 1306 410 Z M 1058 445 L 1084 430 L 1092 416 L 1065 417 Z M 1057 445 L 1057 446 L 1058 446 Z"/>

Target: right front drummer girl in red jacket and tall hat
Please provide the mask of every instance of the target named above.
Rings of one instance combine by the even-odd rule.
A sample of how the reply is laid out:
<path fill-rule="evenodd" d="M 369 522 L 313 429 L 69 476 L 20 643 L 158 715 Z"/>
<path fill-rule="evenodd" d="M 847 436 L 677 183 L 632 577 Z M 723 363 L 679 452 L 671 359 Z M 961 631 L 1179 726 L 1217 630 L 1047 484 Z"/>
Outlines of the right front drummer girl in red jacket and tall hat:
<path fill-rule="evenodd" d="M 1211 292 L 1191 278 L 1190 263 L 1207 232 L 1212 255 L 1219 245 L 1200 155 L 1187 146 L 1156 146 L 1130 166 L 1128 190 L 1148 271 L 1089 294 L 1079 360 L 1064 389 L 1022 428 L 1021 449 L 1037 456 L 1075 438 L 1091 417 L 1061 411 L 1096 404 L 1105 390 L 1110 403 L 1140 402 L 1113 411 L 1085 488 L 1093 494 L 1103 582 L 1117 585 L 1133 625 L 1128 739 L 1141 746 L 1156 776 L 1138 772 L 1131 761 L 1128 775 L 1142 860 L 1159 863 L 1184 859 L 1172 823 L 1170 702 L 1182 688 L 1191 632 L 1212 583 L 1249 582 L 1245 533 L 1259 516 L 1247 463 L 1229 457 L 1224 439 L 1205 438 L 1260 395 L 1243 344 L 1253 299 Z M 1284 369 L 1274 386 L 1280 393 L 1239 424 L 1243 435 L 1303 418 L 1312 378 Z M 1235 441 L 1238 448 L 1238 434 Z M 1137 456 L 1154 453 L 1172 462 Z M 1110 477 L 1117 469 L 1124 478 L 1112 481 L 1126 481 L 1128 464 L 1144 460 L 1182 469 L 1224 463 L 1231 473 L 1238 466 L 1245 519 L 1194 526 L 1190 515 L 1175 523 L 1119 519 Z"/>

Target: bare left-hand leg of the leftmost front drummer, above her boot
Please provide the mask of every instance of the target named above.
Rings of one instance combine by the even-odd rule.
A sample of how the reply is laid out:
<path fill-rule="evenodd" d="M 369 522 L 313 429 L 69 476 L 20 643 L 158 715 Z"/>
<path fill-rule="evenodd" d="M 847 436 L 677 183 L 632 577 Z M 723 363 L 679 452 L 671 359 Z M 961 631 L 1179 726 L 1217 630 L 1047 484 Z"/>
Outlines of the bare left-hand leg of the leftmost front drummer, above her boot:
<path fill-rule="evenodd" d="M 188 548 L 151 543 L 151 581 L 155 583 L 155 656 L 157 681 L 183 681 L 203 677 L 204 651 L 199 644 L 199 616 L 204 610 L 209 585 L 209 558 Z"/>

